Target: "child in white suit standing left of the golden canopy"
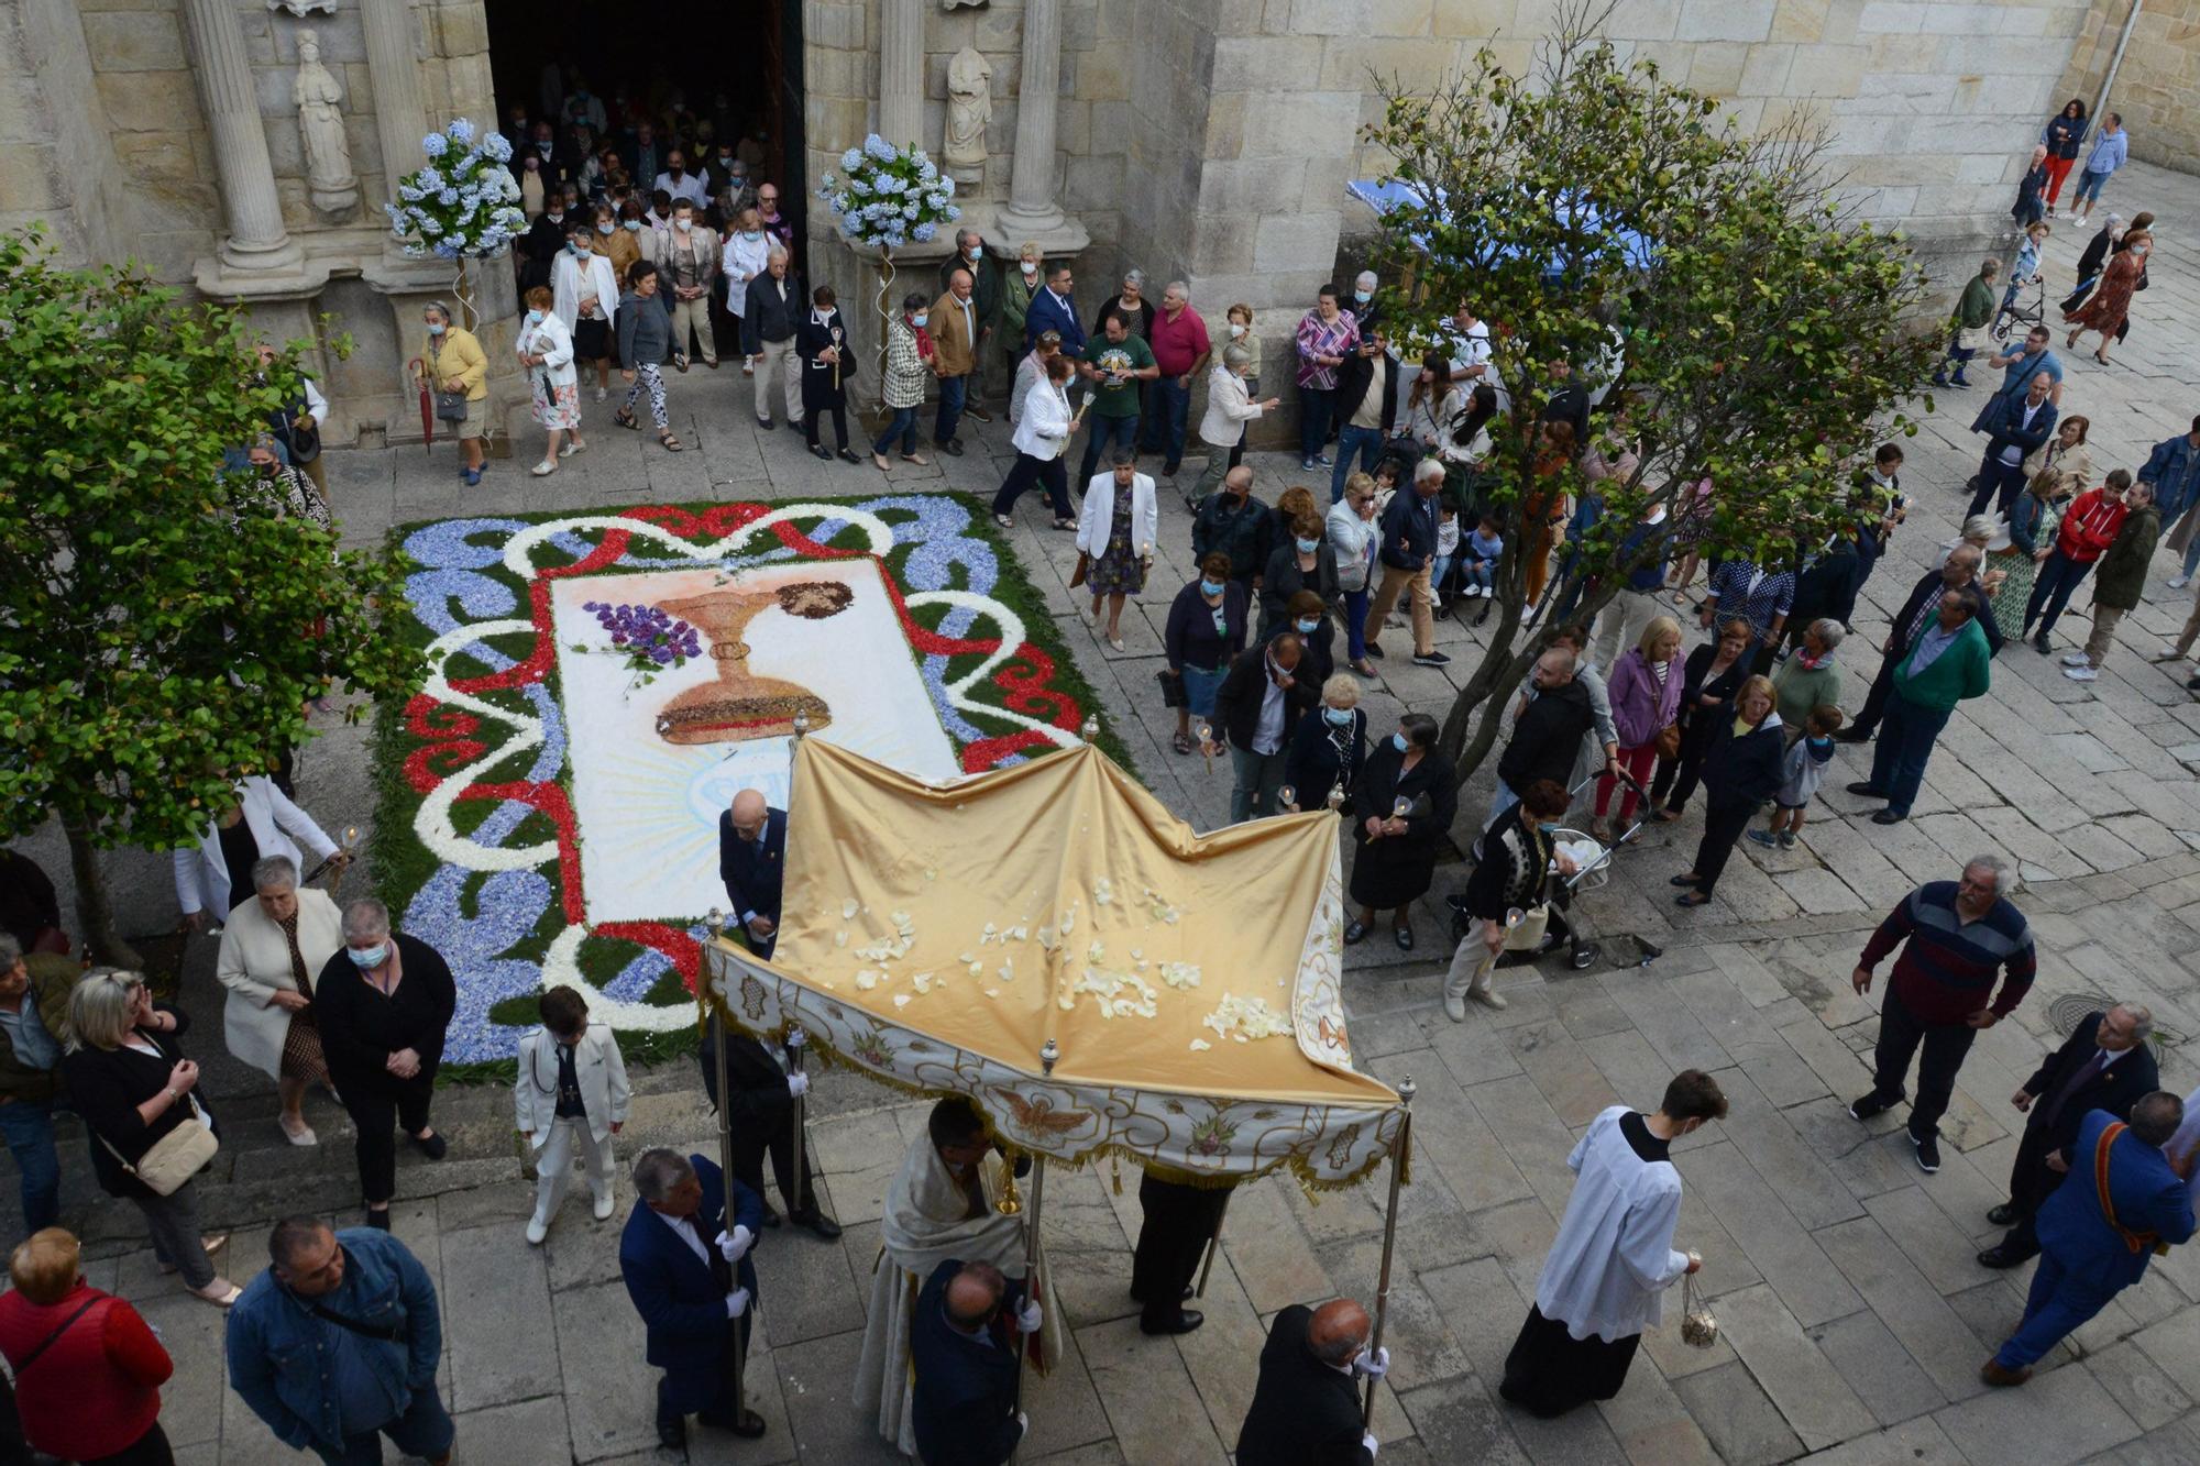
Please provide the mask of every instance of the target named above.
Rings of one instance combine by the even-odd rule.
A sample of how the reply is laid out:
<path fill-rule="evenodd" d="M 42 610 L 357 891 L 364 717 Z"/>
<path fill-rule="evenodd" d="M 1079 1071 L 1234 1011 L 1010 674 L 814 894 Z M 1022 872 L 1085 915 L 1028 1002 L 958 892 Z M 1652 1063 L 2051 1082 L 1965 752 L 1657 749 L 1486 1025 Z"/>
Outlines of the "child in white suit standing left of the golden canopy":
<path fill-rule="evenodd" d="M 528 1246 L 550 1235 L 550 1217 L 565 1197 L 572 1149 L 587 1158 L 587 1189 L 596 1219 L 612 1215 L 612 1136 L 627 1123 L 627 1061 L 603 1024 L 587 1021 L 587 1002 L 559 984 L 543 991 L 541 1028 L 519 1035 L 519 1072 L 513 1112 L 519 1134 L 535 1147 L 535 1215 Z"/>

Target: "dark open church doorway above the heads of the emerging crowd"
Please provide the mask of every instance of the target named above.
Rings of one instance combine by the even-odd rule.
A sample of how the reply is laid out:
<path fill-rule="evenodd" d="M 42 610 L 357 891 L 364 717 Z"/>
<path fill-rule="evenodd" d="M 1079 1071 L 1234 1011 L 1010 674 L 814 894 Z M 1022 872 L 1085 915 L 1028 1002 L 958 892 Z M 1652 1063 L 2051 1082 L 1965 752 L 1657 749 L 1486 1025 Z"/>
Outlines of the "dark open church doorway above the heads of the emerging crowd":
<path fill-rule="evenodd" d="M 658 141 L 702 167 L 715 139 L 757 136 L 755 176 L 779 185 L 781 214 L 807 238 L 801 0 L 484 0 L 484 11 L 499 125 L 513 103 L 554 117 L 585 84 L 612 141 L 651 117 Z"/>

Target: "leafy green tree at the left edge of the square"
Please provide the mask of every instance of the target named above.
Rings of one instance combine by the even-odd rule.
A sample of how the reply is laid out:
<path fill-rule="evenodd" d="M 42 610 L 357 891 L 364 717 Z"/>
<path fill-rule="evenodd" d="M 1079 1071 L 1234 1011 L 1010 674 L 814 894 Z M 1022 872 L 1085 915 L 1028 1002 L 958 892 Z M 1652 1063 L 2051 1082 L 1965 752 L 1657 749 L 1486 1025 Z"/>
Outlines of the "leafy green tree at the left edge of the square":
<path fill-rule="evenodd" d="M 418 685 L 398 564 L 235 467 L 306 346 L 0 236 L 0 839 L 62 821 L 95 958 L 134 964 L 97 850 L 191 843 L 310 698 Z"/>

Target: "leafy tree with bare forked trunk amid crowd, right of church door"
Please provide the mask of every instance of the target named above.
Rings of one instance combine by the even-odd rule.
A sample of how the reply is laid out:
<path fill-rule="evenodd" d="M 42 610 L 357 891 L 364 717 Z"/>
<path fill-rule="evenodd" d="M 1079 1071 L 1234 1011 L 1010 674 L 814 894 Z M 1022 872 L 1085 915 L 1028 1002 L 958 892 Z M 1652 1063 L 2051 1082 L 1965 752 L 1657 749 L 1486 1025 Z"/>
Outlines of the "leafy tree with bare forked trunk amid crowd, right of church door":
<path fill-rule="evenodd" d="M 1652 508 L 1672 526 L 1709 480 L 1707 555 L 1786 561 L 1852 533 L 1855 467 L 1885 434 L 1916 431 L 1890 409 L 1936 354 L 1905 324 L 1925 291 L 1907 247 L 1839 203 L 1824 134 L 1742 134 L 1712 97 L 1597 40 L 1608 11 L 1571 7 L 1525 75 L 1483 51 L 1434 92 L 1386 86 L 1371 128 L 1393 158 L 1384 180 L 1417 198 L 1384 216 L 1377 244 L 1382 277 L 1408 282 L 1379 302 L 1408 370 L 1423 350 L 1450 354 L 1445 317 L 1465 302 L 1489 321 L 1511 398 L 1487 425 L 1478 484 L 1505 526 L 1498 619 L 1443 726 L 1461 775 L 1498 740 L 1555 610 L 1595 616 L 1659 555 L 1626 546 Z M 1538 418 L 1566 381 L 1619 361 L 1621 407 L 1593 418 L 1586 447 L 1604 462 L 1641 453 L 1588 482 L 1542 447 Z M 1584 491 L 1602 517 L 1529 603 L 1529 519 Z"/>

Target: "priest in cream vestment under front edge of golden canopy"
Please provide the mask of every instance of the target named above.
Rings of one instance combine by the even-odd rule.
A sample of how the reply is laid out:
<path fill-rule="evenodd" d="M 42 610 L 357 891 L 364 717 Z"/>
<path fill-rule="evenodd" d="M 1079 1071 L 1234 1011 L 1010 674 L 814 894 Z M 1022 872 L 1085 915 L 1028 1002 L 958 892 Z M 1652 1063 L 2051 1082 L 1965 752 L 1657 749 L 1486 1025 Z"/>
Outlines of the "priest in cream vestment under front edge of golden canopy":
<path fill-rule="evenodd" d="M 1021 1305 L 1025 1281 L 1023 1217 L 992 1208 L 1008 1180 L 1008 1162 L 986 1142 L 986 1123 L 966 1098 L 933 1105 L 924 1136 L 909 1147 L 887 1186 L 880 1217 L 884 1252 L 871 1272 L 871 1316 L 856 1365 L 856 1409 L 878 1409 L 878 1433 L 902 1455 L 917 1453 L 909 1420 L 909 1314 L 933 1270 L 948 1261 L 986 1261 L 1010 1279 L 1010 1303 Z M 1038 1369 L 1063 1349 L 1060 1308 L 1038 1252 L 1041 1330 Z"/>

